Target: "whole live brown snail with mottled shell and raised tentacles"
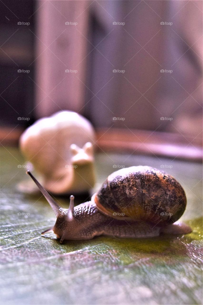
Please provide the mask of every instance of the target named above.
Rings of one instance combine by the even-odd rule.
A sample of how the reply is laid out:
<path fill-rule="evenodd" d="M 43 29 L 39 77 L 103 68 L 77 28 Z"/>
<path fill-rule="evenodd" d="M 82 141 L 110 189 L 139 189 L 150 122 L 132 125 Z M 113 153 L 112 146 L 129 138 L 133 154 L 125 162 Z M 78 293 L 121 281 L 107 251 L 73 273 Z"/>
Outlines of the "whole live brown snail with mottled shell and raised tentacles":
<path fill-rule="evenodd" d="M 181 185 L 169 174 L 148 166 L 122 168 L 104 181 L 91 201 L 74 208 L 61 208 L 45 188 L 27 171 L 48 200 L 57 217 L 53 228 L 64 240 L 85 240 L 94 236 L 144 238 L 161 233 L 187 234 L 191 228 L 176 222 L 186 207 Z"/>

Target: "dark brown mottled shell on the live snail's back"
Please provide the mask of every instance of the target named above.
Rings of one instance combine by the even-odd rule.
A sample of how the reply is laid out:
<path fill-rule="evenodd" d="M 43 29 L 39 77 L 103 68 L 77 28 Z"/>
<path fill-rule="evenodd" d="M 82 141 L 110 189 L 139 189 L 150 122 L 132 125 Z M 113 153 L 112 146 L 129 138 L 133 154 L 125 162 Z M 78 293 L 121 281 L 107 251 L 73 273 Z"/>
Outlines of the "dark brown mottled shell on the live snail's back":
<path fill-rule="evenodd" d="M 94 202 L 98 210 L 113 218 L 164 225 L 181 217 L 187 200 L 171 175 L 149 166 L 132 166 L 109 175 Z"/>

